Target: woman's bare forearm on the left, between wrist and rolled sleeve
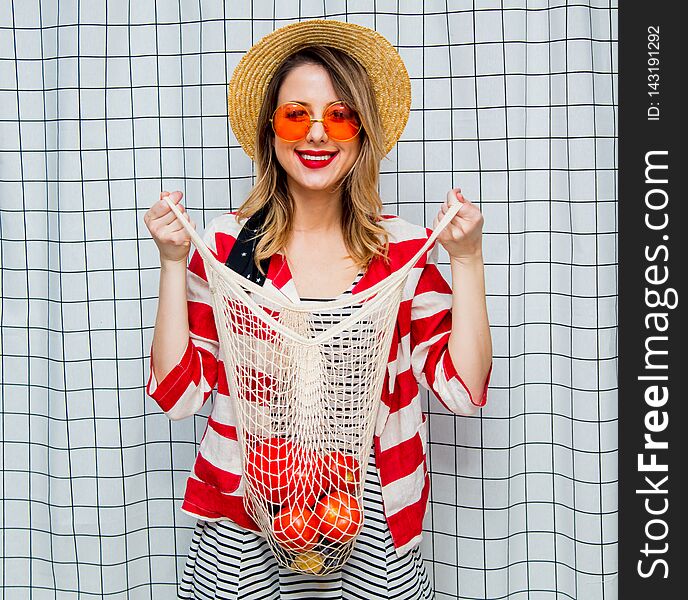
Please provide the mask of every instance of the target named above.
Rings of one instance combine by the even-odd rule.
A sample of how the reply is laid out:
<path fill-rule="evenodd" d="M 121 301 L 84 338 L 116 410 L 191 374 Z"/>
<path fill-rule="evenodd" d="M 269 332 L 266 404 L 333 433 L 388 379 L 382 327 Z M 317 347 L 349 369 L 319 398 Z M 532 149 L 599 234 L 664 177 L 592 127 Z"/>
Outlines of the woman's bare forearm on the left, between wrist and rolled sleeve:
<path fill-rule="evenodd" d="M 153 373 L 157 381 L 162 381 L 179 363 L 189 343 L 186 268 L 186 260 L 161 263 L 158 314 L 152 347 L 155 362 Z"/>

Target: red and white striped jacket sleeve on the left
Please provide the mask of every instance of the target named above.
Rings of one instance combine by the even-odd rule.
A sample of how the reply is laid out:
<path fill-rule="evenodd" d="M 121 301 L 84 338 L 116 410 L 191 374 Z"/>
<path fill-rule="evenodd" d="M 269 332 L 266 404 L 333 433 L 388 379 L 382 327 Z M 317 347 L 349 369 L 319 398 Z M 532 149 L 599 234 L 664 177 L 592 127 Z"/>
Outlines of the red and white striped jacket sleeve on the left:
<path fill-rule="evenodd" d="M 203 241 L 217 256 L 215 227 L 211 221 Z M 197 413 L 210 397 L 218 377 L 219 343 L 213 315 L 210 288 L 201 255 L 195 247 L 186 270 L 189 342 L 179 362 L 157 381 L 153 348 L 146 393 L 173 421 Z"/>

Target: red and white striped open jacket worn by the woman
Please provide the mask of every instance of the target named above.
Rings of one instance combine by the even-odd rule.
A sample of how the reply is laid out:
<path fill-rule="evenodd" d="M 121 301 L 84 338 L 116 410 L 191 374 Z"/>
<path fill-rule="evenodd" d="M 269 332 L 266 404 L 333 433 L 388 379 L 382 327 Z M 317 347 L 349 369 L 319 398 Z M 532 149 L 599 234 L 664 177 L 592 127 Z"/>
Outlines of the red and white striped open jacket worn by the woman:
<path fill-rule="evenodd" d="M 243 225 L 236 222 L 235 214 L 228 212 L 214 218 L 203 234 L 206 245 L 221 262 L 226 261 Z M 406 264 L 432 232 L 394 215 L 382 215 L 380 222 L 390 233 L 390 262 L 385 264 L 376 257 L 352 293 L 367 289 Z M 482 396 L 474 399 L 454 368 L 448 350 L 452 290 L 437 268 L 437 255 L 435 242 L 411 269 L 404 287 L 374 435 L 384 512 L 400 556 L 421 541 L 430 489 L 426 419 L 419 384 L 432 391 L 451 412 L 470 415 L 487 401 L 492 373 L 490 366 Z M 205 520 L 229 518 L 257 531 L 243 505 L 235 409 L 229 397 L 205 268 L 195 248 L 186 274 L 189 343 L 178 364 L 162 381 L 157 381 L 153 373 L 151 348 L 146 393 L 170 419 L 179 420 L 198 412 L 217 384 L 181 509 Z M 299 300 L 289 267 L 279 254 L 270 260 L 264 286 L 279 290 L 293 302 Z"/>

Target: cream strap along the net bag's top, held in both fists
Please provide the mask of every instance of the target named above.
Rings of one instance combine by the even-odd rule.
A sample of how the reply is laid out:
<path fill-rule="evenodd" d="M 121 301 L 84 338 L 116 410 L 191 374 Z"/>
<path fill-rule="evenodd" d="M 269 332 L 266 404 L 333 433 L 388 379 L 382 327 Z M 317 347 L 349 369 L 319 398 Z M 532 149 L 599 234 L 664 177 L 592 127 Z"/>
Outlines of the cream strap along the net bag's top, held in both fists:
<path fill-rule="evenodd" d="M 184 229 L 186 229 L 187 233 L 191 237 L 191 241 L 193 242 L 194 246 L 196 246 L 196 248 L 198 249 L 199 254 L 203 257 L 206 266 L 210 267 L 209 271 L 216 272 L 218 275 L 222 276 L 226 281 L 234 284 L 233 287 L 235 287 L 236 289 L 241 287 L 249 292 L 257 293 L 271 300 L 277 305 L 283 306 L 285 308 L 297 312 L 311 312 L 314 309 L 322 308 L 324 306 L 330 309 L 350 306 L 354 303 L 362 302 L 372 297 L 380 290 L 391 289 L 396 287 L 402 280 L 406 279 L 407 275 L 411 272 L 411 269 L 413 269 L 413 267 L 416 265 L 421 256 L 423 256 L 428 251 L 428 249 L 433 245 L 437 237 L 442 233 L 444 228 L 447 225 L 449 225 L 449 222 L 454 218 L 456 213 L 459 212 L 461 206 L 463 206 L 460 202 L 450 206 L 447 213 L 444 215 L 442 220 L 437 224 L 437 227 L 435 227 L 433 232 L 430 234 L 430 237 L 428 237 L 428 239 L 420 248 L 420 250 L 418 250 L 418 252 L 416 252 L 416 254 L 403 267 L 397 269 L 394 273 L 388 275 L 375 285 L 363 290 L 362 292 L 358 292 L 357 294 L 351 294 L 347 298 L 342 298 L 340 300 L 327 300 L 326 302 L 300 302 L 299 304 L 294 304 L 281 294 L 276 294 L 269 288 L 263 288 L 262 286 L 253 283 L 245 277 L 242 277 L 241 275 L 227 267 L 224 263 L 219 261 L 215 257 L 213 252 L 210 250 L 210 248 L 206 246 L 201 236 L 198 235 L 198 233 L 196 233 L 196 230 L 184 218 L 177 205 L 170 200 L 169 196 L 164 196 L 164 198 L 167 204 L 174 212 L 174 214 L 177 216 L 177 220 L 179 220 L 179 222 L 182 224 Z M 211 273 L 208 272 L 207 275 L 208 283 L 210 284 L 212 291 L 212 277 L 214 277 L 214 274 L 211 276 Z M 244 296 L 244 299 L 246 299 L 245 294 L 240 295 Z"/>

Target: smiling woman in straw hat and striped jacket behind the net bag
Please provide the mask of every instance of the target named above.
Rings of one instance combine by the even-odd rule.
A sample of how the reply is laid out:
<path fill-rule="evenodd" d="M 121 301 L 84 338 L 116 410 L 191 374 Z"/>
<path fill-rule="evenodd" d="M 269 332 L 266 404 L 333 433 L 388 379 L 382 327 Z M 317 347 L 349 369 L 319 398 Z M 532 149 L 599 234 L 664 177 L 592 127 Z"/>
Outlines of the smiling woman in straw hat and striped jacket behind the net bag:
<path fill-rule="evenodd" d="M 354 57 L 343 47 L 365 50 Z M 254 84 L 230 84 L 241 91 L 230 93 L 230 119 L 256 161 L 257 183 L 238 211 L 209 223 L 203 239 L 217 258 L 296 302 L 341 298 L 403 266 L 431 231 L 382 214 L 377 192 L 380 160 L 401 135 L 409 106 L 400 96 L 410 90 L 408 75 L 389 42 L 338 21 L 296 23 L 247 53 L 233 76 L 241 81 Z M 244 131 L 238 119 L 252 122 L 251 103 L 260 110 Z M 169 197 L 188 219 L 181 192 Z M 176 420 L 195 414 L 217 385 L 182 505 L 198 521 L 180 598 L 433 597 L 419 550 L 429 491 L 419 385 L 452 412 L 473 414 L 485 404 L 492 370 L 482 215 L 454 188 L 434 225 L 457 202 L 463 206 L 438 237 L 452 285 L 436 266 L 434 245 L 404 288 L 365 480 L 364 525 L 344 567 L 324 576 L 279 567 L 246 513 L 236 416 L 203 261 L 194 251 L 187 269 L 189 236 L 162 198 L 147 212 L 161 260 L 147 393 Z"/>

